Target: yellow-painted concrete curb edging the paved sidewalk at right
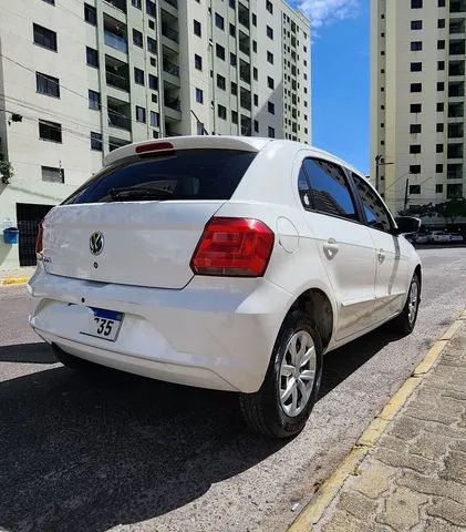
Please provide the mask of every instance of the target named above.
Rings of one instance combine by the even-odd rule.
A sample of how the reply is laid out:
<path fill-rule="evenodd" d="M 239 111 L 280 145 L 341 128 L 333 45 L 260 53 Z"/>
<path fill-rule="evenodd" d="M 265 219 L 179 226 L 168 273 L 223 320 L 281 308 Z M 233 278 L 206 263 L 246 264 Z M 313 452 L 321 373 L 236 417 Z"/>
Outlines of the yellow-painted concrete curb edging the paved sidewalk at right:
<path fill-rule="evenodd" d="M 351 451 L 343 458 L 335 471 L 323 482 L 319 491 L 311 499 L 309 504 L 298 515 L 288 532 L 311 532 L 313 525 L 323 515 L 328 505 L 341 490 L 345 480 L 355 474 L 359 466 L 367 452 L 373 449 L 389 422 L 396 416 L 405 405 L 413 391 L 420 386 L 423 378 L 433 368 L 445 347 L 449 344 L 455 334 L 466 323 L 466 310 L 448 327 L 427 351 L 423 360 L 417 365 L 411 377 L 405 380 L 398 391 L 389 400 L 375 419 L 369 424 L 356 441 Z"/>

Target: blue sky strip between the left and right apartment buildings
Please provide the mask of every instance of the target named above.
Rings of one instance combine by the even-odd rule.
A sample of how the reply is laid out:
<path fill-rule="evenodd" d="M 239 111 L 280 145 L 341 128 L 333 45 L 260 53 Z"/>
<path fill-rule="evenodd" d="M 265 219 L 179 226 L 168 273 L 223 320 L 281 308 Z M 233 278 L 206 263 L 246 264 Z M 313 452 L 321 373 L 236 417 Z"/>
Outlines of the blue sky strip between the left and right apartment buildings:
<path fill-rule="evenodd" d="M 370 166 L 367 0 L 292 0 L 309 17 L 312 42 L 312 144 L 364 173 Z"/>

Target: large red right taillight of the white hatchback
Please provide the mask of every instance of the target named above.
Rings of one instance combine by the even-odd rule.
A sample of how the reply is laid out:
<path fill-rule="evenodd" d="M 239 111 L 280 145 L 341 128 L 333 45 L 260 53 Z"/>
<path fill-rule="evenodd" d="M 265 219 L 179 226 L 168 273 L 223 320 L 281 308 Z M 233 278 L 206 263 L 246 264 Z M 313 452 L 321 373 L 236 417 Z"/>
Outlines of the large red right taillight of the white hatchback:
<path fill-rule="evenodd" d="M 273 241 L 273 232 L 259 219 L 214 217 L 204 229 L 190 267 L 198 275 L 261 277 Z"/>

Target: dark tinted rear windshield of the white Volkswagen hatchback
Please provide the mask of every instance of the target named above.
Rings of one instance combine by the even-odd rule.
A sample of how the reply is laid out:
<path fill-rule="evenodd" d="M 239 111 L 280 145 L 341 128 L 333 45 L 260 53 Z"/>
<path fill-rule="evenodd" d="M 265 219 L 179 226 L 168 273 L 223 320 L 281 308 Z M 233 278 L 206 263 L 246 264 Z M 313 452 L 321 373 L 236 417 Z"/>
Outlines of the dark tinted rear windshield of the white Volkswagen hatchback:
<path fill-rule="evenodd" d="M 105 168 L 64 204 L 229 200 L 255 158 L 239 150 L 180 150 Z"/>

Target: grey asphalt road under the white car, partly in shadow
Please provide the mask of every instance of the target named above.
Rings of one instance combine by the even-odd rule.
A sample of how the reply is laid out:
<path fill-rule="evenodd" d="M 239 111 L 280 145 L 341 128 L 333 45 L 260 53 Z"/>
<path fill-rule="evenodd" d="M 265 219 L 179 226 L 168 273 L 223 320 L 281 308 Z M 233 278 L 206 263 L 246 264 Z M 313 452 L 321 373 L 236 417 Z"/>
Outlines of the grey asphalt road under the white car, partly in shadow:
<path fill-rule="evenodd" d="M 25 324 L 24 288 L 0 288 L 0 530 L 286 530 L 466 306 L 466 249 L 421 255 L 413 335 L 329 354 L 310 422 L 286 443 L 248 432 L 234 395 L 63 368 Z"/>

